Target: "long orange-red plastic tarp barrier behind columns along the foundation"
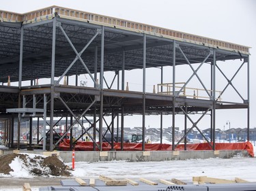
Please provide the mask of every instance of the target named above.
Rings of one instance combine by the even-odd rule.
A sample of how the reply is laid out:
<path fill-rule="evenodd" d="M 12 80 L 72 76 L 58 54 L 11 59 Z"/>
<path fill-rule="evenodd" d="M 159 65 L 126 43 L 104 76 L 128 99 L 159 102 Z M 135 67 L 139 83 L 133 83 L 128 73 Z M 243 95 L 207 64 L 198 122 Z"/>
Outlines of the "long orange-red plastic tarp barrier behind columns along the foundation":
<path fill-rule="evenodd" d="M 142 143 L 124 143 L 124 151 L 141 151 Z M 59 144 L 61 150 L 68 151 L 70 150 L 70 140 L 64 140 Z M 77 141 L 75 150 L 79 151 L 93 151 L 94 143 L 93 142 L 85 142 L 85 141 Z M 98 150 L 98 147 L 96 147 Z M 102 150 L 109 151 L 111 150 L 111 145 L 109 143 L 102 143 Z M 121 143 L 114 143 L 114 150 L 121 150 Z M 160 144 L 160 143 L 145 143 L 145 151 L 154 151 L 154 150 L 172 150 L 172 146 L 170 144 Z M 175 150 L 184 150 L 184 145 L 177 145 Z M 197 143 L 197 144 L 187 144 L 186 150 L 212 150 L 212 147 L 208 143 Z M 215 143 L 215 150 L 247 150 L 248 154 L 254 156 L 253 153 L 253 145 L 250 142 L 244 143 Z"/>

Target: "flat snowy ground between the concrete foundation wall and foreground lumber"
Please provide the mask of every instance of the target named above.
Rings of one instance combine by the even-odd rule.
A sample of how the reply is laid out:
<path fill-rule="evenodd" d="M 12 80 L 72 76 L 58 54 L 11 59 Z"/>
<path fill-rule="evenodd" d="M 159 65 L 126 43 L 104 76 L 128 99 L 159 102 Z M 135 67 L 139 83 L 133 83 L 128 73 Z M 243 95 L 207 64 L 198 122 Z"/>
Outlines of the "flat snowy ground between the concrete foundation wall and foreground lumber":
<path fill-rule="evenodd" d="M 68 163 L 71 166 L 71 163 Z M 76 162 L 74 177 L 95 177 L 99 175 L 121 179 L 124 177 L 139 179 L 171 179 L 192 181 L 193 176 L 209 176 L 223 179 L 240 177 L 256 181 L 256 158 L 209 158 L 190 160 L 169 160 L 162 162 Z"/>

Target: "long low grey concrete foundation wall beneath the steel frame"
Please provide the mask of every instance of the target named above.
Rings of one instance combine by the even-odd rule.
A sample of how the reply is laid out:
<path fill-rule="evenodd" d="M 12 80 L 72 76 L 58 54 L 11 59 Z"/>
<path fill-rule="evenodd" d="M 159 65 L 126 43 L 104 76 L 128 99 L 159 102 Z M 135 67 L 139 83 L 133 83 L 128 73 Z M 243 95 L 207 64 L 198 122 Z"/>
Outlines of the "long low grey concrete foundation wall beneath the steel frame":
<path fill-rule="evenodd" d="M 1 154 L 11 154 L 13 152 L 20 153 L 33 153 L 44 154 L 51 156 L 56 154 L 63 158 L 64 162 L 72 162 L 71 151 L 61 152 L 42 152 L 42 151 L 28 151 L 28 150 L 16 150 L 16 151 L 3 151 Z M 137 161 L 162 161 L 162 160 L 186 160 L 190 158 L 231 158 L 233 156 L 249 156 L 246 150 L 221 150 L 221 151 L 76 151 L 76 162 L 98 162 L 98 161 L 110 161 L 110 160 L 126 160 L 130 162 Z"/>

